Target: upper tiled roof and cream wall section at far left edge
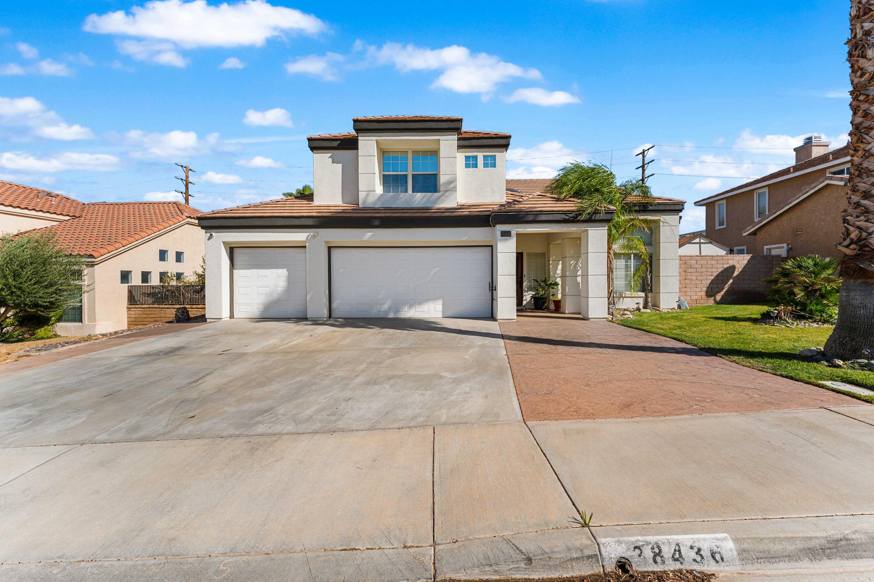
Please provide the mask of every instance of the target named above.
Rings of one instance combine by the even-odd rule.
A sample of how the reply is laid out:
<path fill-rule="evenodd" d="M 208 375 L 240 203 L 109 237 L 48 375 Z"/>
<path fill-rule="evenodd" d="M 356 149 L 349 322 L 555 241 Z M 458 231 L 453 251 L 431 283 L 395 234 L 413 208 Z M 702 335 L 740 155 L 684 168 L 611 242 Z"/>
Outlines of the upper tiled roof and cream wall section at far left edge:
<path fill-rule="evenodd" d="M 0 181 L 0 234 L 38 229 L 82 216 L 83 206 L 69 196 Z"/>

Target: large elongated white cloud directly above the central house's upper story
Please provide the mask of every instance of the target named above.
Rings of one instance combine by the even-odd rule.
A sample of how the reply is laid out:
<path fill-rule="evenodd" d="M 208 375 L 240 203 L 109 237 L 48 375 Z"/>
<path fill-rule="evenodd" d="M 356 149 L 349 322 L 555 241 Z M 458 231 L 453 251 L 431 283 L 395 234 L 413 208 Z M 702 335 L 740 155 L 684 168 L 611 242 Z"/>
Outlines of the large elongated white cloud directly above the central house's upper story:
<path fill-rule="evenodd" d="M 442 49 L 385 43 L 382 48 L 367 47 L 368 58 L 378 65 L 394 65 L 399 72 L 440 71 L 431 84 L 461 93 L 490 93 L 510 79 L 541 79 L 537 69 L 506 63 L 485 52 L 472 54 L 467 47 L 452 45 Z"/>

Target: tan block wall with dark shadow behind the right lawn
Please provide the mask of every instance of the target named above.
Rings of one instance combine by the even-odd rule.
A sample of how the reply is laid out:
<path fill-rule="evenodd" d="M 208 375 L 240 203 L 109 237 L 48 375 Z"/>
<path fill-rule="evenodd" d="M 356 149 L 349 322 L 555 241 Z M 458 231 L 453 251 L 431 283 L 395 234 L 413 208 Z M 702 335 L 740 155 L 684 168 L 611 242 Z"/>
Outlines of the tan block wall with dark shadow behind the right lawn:
<path fill-rule="evenodd" d="M 767 297 L 762 279 L 783 257 L 769 255 L 680 255 L 680 297 L 690 306 L 744 303 Z"/>

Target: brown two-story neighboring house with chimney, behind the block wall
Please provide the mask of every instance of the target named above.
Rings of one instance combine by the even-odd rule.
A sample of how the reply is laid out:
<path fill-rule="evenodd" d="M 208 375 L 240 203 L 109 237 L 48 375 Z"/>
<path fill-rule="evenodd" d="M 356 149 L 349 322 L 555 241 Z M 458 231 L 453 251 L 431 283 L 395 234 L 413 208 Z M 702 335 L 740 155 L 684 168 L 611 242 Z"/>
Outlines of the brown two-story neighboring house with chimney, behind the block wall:
<path fill-rule="evenodd" d="M 829 152 L 822 136 L 795 148 L 795 164 L 695 202 L 706 235 L 738 255 L 840 257 L 850 148 Z"/>

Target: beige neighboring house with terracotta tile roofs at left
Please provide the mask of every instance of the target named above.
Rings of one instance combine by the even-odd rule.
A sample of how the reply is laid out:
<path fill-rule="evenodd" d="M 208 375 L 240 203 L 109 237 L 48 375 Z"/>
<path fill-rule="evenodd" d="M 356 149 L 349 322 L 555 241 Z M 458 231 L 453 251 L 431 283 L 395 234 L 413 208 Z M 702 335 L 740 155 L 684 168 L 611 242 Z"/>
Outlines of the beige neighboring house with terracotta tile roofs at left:
<path fill-rule="evenodd" d="M 52 199 L 51 192 L 11 182 L 0 182 L 0 193 L 0 202 L 25 209 L 41 208 L 41 201 Z M 52 230 L 69 253 L 87 261 L 86 291 L 80 302 L 68 305 L 56 325 L 60 335 L 125 329 L 128 284 L 159 284 L 163 274 L 189 277 L 200 269 L 200 210 L 182 202 L 84 203 L 54 196 L 55 208 L 70 214 L 56 215 L 63 219 L 37 228 Z"/>

